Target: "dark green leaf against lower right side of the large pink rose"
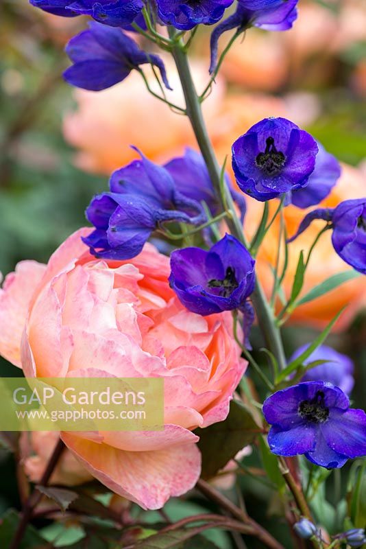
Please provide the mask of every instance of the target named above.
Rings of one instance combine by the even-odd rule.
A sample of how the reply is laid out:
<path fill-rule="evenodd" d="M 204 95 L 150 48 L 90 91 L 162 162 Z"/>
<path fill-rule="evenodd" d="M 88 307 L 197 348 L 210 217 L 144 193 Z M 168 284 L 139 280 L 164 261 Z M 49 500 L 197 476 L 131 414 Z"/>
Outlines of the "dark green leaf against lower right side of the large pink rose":
<path fill-rule="evenodd" d="M 198 447 L 202 453 L 202 477 L 208 479 L 215 476 L 239 450 L 254 441 L 260 429 L 249 408 L 236 400 L 231 401 L 225 421 L 206 429 L 196 429 L 195 434 L 200 437 Z"/>

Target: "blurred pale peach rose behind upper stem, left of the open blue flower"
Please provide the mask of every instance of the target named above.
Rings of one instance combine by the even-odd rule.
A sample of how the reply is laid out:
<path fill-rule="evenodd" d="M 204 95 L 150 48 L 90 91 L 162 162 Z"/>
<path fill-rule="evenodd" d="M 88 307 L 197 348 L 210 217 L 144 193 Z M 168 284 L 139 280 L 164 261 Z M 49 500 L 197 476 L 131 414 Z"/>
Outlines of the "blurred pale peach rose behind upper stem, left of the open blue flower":
<path fill-rule="evenodd" d="M 184 106 L 178 74 L 166 62 L 173 91 L 169 101 Z M 204 90 L 209 75 L 206 65 L 193 65 L 197 89 Z M 147 69 L 148 73 L 148 69 Z M 157 89 L 154 75 L 148 73 L 149 84 Z M 218 80 L 212 94 L 204 102 L 204 115 L 210 120 L 221 104 L 225 86 Z M 167 161 L 180 154 L 184 147 L 195 145 L 195 137 L 186 117 L 150 95 L 141 75 L 133 71 L 127 80 L 99 92 L 76 90 L 77 110 L 64 118 L 64 137 L 79 152 L 75 163 L 82 170 L 110 174 L 130 162 L 136 153 L 130 145 L 138 145 L 149 159 Z"/>

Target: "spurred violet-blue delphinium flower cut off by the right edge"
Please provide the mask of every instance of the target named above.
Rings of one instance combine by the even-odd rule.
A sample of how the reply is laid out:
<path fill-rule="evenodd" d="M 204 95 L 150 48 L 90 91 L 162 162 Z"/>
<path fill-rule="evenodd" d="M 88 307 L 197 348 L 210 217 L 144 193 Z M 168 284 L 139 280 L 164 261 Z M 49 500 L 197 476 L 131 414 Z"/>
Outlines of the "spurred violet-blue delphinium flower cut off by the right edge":
<path fill-rule="evenodd" d="M 321 219 L 332 229 L 332 244 L 337 254 L 358 272 L 366 274 L 366 198 L 345 200 L 336 208 L 318 208 L 305 215 L 292 242 L 311 222 Z"/>

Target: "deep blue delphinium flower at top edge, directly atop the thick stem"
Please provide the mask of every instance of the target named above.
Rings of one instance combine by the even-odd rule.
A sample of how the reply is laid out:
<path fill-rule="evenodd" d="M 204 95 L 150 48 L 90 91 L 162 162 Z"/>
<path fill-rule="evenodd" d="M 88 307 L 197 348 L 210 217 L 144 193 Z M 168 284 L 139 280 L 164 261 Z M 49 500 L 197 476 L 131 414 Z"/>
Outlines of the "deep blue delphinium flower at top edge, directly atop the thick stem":
<path fill-rule="evenodd" d="M 163 23 L 179 30 L 190 30 L 195 25 L 213 25 L 220 21 L 225 9 L 234 0 L 156 0 L 158 15 Z"/>

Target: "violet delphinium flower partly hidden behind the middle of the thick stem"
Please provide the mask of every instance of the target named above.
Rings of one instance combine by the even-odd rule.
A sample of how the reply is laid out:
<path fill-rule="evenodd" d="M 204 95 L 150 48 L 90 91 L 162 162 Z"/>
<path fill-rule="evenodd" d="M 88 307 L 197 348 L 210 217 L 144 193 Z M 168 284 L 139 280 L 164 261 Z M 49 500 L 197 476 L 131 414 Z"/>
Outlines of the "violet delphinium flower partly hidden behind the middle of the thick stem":
<path fill-rule="evenodd" d="M 219 213 L 219 202 L 202 154 L 191 148 L 186 148 L 184 156 L 171 160 L 164 167 L 173 177 L 178 191 L 197 202 L 206 202 L 213 216 Z M 228 175 L 225 179 L 243 220 L 246 211 L 245 198 L 243 194 L 232 188 Z"/>

